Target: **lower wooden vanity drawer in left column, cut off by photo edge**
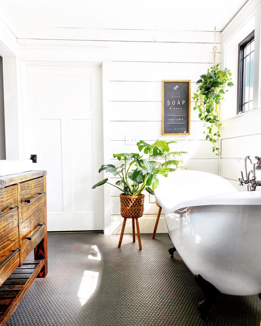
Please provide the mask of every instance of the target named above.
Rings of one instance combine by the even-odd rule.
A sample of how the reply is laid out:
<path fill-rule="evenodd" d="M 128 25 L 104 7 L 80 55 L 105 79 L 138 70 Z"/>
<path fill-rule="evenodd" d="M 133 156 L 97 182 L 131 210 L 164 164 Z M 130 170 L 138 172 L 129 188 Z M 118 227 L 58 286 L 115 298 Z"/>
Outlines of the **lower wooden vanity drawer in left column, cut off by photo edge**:
<path fill-rule="evenodd" d="M 19 265 L 18 226 L 0 237 L 0 284 L 12 274 Z"/>

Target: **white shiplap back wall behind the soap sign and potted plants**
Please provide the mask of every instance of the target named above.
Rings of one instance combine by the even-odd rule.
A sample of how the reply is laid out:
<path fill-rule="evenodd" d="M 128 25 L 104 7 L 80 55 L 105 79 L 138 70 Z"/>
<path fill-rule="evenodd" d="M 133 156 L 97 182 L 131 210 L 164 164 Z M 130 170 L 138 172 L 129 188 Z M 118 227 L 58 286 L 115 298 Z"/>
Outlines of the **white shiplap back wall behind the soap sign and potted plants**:
<path fill-rule="evenodd" d="M 83 37 L 84 38 L 84 37 Z M 91 41 L 89 41 L 89 40 Z M 21 46 L 109 47 L 110 63 L 110 152 L 137 152 L 136 146 L 125 145 L 125 135 L 153 142 L 157 139 L 177 140 L 176 150 L 187 151 L 184 165 L 188 169 L 218 174 L 218 159 L 211 144 L 204 140 L 203 123 L 193 111 L 191 103 L 191 134 L 188 136 L 161 136 L 161 81 L 163 79 L 190 79 L 192 92 L 199 76 L 212 65 L 214 32 L 193 31 L 100 31 L 79 41 L 18 39 Z M 216 35 L 217 62 L 221 62 L 221 38 Z M 192 93 L 193 94 L 193 93 Z M 105 162 L 108 163 L 108 162 Z M 111 232 L 120 232 L 119 192 L 111 191 Z M 140 219 L 141 232 L 152 232 L 158 208 L 149 203 L 146 195 L 144 216 Z M 158 231 L 165 232 L 163 218 Z M 127 225 L 126 232 L 131 232 Z"/>

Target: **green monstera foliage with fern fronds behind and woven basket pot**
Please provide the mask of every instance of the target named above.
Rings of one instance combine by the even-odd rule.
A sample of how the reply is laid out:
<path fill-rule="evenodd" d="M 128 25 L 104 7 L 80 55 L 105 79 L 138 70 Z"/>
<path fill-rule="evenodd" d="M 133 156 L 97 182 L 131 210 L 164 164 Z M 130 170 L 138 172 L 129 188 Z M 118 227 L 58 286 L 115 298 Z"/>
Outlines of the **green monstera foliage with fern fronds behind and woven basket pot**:
<path fill-rule="evenodd" d="M 146 190 L 148 193 L 153 194 L 153 189 L 158 187 L 159 174 L 167 177 L 170 171 L 180 168 L 179 164 L 181 164 L 182 161 L 177 160 L 175 157 L 181 156 L 186 152 L 170 152 L 170 143 L 174 143 L 174 141 L 166 142 L 158 140 L 153 144 L 139 141 L 137 143 L 138 150 L 140 152 L 143 151 L 143 153 L 148 157 L 147 159 L 143 158 L 143 156 L 138 153 L 113 154 L 113 157 L 119 160 L 120 165 L 102 165 L 99 169 L 99 173 L 101 171 L 112 173 L 114 176 L 118 177 L 119 180 L 117 180 L 113 185 L 108 182 L 108 178 L 105 178 L 95 184 L 92 189 L 106 183 L 116 187 L 121 191 L 121 215 L 123 216 L 123 212 L 124 215 L 131 215 L 131 210 L 133 210 L 134 207 L 137 207 L 138 201 L 140 202 L 140 205 L 143 205 L 144 203 L 144 195 L 142 192 Z M 157 161 L 156 159 L 161 159 L 161 161 Z M 127 208 L 126 198 L 128 198 Z M 134 201 L 136 201 L 136 203 Z M 143 206 L 141 209 L 143 214 Z"/>

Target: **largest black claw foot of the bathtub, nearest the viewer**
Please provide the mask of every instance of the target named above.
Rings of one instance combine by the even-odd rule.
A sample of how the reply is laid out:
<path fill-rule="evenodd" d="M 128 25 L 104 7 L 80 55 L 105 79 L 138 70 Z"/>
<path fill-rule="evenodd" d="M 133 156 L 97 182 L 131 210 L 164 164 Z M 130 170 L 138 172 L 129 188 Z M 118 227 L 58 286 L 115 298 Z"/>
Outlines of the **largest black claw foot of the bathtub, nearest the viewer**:
<path fill-rule="evenodd" d="M 198 311 L 202 316 L 209 313 L 212 304 L 216 300 L 220 291 L 211 283 L 205 280 L 200 274 L 195 275 L 195 281 L 205 295 L 205 299 L 198 304 Z"/>

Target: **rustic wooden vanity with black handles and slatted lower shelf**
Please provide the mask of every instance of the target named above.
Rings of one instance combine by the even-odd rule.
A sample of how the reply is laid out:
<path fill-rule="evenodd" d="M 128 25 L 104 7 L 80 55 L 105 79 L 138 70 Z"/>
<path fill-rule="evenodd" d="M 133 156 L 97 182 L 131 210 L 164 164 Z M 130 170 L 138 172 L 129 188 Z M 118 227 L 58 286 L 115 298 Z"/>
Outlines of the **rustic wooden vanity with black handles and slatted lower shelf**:
<path fill-rule="evenodd" d="M 0 326 L 47 271 L 46 171 L 0 177 Z"/>

